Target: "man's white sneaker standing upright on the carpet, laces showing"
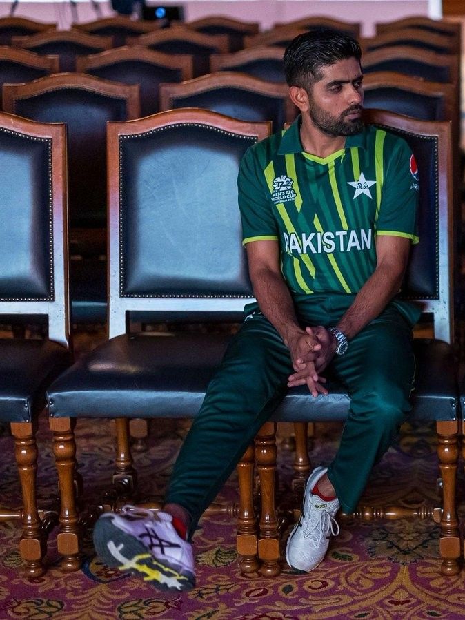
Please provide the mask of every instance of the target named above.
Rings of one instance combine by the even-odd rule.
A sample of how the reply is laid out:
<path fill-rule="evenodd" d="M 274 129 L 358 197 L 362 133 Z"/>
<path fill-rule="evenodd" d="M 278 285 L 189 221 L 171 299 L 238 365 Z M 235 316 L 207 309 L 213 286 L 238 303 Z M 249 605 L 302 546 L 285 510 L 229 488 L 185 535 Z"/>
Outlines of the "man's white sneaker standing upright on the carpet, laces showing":
<path fill-rule="evenodd" d="M 339 510 L 339 499 L 325 502 L 312 490 L 318 480 L 326 474 L 327 467 L 317 467 L 308 478 L 304 505 L 298 523 L 289 535 L 286 546 L 286 561 L 291 568 L 309 572 L 318 566 L 328 550 L 331 534 L 339 534 L 334 518 Z"/>

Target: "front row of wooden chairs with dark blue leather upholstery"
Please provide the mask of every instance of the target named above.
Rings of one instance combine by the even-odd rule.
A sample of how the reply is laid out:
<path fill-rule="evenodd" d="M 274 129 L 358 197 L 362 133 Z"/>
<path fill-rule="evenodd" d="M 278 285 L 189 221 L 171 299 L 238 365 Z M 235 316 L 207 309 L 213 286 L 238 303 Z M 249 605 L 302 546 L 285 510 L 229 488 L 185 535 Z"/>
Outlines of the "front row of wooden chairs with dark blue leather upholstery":
<path fill-rule="evenodd" d="M 451 126 L 375 110 L 366 112 L 365 120 L 401 135 L 417 160 L 420 242 L 413 247 L 402 296 L 433 317 L 435 335 L 414 342 L 413 416 L 436 422 L 442 501 L 431 509 L 391 507 L 389 515 L 435 518 L 442 571 L 453 575 L 460 556 L 455 486 L 461 415 L 452 350 Z M 29 575 L 44 570 L 47 533 L 56 518 L 39 511 L 35 492 L 35 430 L 45 402 L 59 476 L 57 544 L 63 570 L 80 566 L 86 520 L 77 497 L 76 420 L 117 420 L 119 495 L 101 502 L 98 512 L 119 510 L 134 498 L 131 418 L 197 414 L 230 335 L 186 333 L 176 324 L 237 322 L 244 304 L 253 300 L 241 249 L 236 178 L 245 150 L 270 130 L 270 123 L 246 123 L 195 109 L 109 123 L 108 340 L 70 365 L 65 127 L 0 114 L 0 171 L 14 178 L 14 183 L 2 183 L 0 193 L 0 313 L 43 314 L 49 325 L 44 341 L 0 340 L 0 420 L 11 423 L 23 492 L 23 507 L 10 516 L 22 519 L 20 552 Z M 131 324 L 140 320 L 170 322 L 170 337 L 132 332 Z M 257 568 L 268 576 L 279 572 L 275 423 L 342 420 L 348 402 L 339 384 L 330 386 L 328 397 L 316 400 L 304 389 L 293 391 L 257 436 L 257 453 L 252 448 L 246 452 L 239 464 L 237 538 L 244 573 Z M 255 463 L 261 478 L 260 521 L 253 505 Z M 300 479 L 306 467 L 308 457 L 300 455 Z M 155 510 L 159 504 L 151 506 Z M 218 506 L 212 510 L 223 511 Z M 366 508 L 359 513 L 369 519 L 386 514 Z"/>

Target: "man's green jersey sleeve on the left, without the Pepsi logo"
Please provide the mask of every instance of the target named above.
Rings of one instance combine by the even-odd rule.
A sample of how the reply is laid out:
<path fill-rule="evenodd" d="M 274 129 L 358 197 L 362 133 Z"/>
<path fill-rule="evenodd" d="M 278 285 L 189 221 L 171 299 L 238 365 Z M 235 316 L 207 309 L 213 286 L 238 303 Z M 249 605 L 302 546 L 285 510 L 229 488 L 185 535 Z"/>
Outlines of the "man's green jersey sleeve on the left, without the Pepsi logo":
<path fill-rule="evenodd" d="M 279 238 L 277 223 L 260 172 L 255 149 L 250 147 L 241 159 L 237 177 L 243 245 L 250 241 Z"/>

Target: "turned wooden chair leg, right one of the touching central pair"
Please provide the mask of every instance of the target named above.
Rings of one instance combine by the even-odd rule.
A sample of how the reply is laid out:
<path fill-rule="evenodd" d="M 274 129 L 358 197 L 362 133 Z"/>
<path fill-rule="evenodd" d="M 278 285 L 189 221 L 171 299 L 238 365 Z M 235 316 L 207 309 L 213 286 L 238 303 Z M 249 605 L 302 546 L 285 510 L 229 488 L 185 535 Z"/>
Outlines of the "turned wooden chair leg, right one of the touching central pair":
<path fill-rule="evenodd" d="M 259 573 L 277 577 L 279 566 L 279 529 L 275 509 L 276 424 L 266 422 L 255 437 L 255 462 L 260 480 L 261 515 L 259 523 Z"/>

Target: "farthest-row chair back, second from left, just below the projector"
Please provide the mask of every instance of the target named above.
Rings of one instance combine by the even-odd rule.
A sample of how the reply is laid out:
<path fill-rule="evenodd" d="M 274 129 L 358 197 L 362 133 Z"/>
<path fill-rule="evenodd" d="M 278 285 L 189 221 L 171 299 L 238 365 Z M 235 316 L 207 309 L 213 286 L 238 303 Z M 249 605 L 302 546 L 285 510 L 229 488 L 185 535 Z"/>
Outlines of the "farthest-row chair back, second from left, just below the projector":
<path fill-rule="evenodd" d="M 98 34 L 100 37 L 112 37 L 113 47 L 119 48 L 125 44 L 126 37 L 137 37 L 139 34 L 159 30 L 164 25 L 166 22 L 162 19 L 135 20 L 126 15 L 115 15 L 113 17 L 101 17 L 87 23 L 73 23 L 71 28 L 88 34 Z"/>

